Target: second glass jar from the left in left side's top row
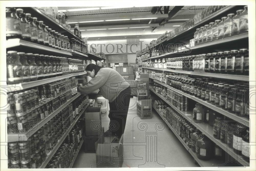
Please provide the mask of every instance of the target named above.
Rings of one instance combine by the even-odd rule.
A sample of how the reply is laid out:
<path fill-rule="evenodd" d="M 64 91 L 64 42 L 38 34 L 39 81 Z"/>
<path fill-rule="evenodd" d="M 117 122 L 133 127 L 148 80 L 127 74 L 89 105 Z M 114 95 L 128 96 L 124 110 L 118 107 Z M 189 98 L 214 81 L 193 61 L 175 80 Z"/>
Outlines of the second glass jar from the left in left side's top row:
<path fill-rule="evenodd" d="M 16 9 L 16 14 L 20 18 L 22 39 L 25 41 L 31 41 L 30 27 L 26 15 L 23 13 L 23 9 Z"/>

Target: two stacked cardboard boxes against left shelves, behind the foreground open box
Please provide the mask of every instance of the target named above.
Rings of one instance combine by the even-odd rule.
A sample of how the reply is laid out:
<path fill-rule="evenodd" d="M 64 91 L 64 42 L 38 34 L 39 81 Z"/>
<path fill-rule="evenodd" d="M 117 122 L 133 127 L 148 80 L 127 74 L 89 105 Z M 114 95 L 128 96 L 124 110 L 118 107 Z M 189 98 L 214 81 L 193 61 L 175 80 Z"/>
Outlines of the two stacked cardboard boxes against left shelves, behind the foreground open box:
<path fill-rule="evenodd" d="M 96 152 L 94 144 L 101 132 L 104 132 L 104 127 L 101 127 L 100 107 L 89 107 L 85 113 L 84 152 Z"/>

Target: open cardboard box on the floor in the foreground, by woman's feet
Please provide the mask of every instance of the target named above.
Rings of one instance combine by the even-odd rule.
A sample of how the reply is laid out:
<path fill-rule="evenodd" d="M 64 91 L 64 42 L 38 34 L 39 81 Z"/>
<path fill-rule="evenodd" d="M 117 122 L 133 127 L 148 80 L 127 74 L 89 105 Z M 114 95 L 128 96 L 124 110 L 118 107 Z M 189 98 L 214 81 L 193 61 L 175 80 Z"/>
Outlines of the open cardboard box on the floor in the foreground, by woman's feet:
<path fill-rule="evenodd" d="M 123 165 L 123 135 L 119 142 L 113 142 L 113 136 L 110 141 L 99 143 L 96 150 L 96 167 L 122 167 Z M 99 141 L 99 140 L 98 140 Z"/>

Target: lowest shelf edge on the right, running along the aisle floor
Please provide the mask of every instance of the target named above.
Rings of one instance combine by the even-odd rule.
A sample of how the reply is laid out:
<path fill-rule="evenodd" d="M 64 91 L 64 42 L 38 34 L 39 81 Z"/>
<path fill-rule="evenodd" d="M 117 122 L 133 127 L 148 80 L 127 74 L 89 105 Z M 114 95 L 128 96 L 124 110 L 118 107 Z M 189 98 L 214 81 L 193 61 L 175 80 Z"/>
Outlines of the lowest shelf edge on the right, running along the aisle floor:
<path fill-rule="evenodd" d="M 152 107 L 155 109 L 155 111 L 159 114 L 159 116 L 163 119 L 163 121 L 166 123 L 166 125 L 172 130 L 174 135 L 178 138 L 178 140 L 182 143 L 182 145 L 185 147 L 185 149 L 192 155 L 192 157 L 196 160 L 196 162 L 201 167 L 218 167 L 220 164 L 219 160 L 216 160 L 215 158 L 211 158 L 210 160 L 201 160 L 196 156 L 196 153 L 193 152 L 188 145 L 183 141 L 183 139 L 177 134 L 177 132 L 173 129 L 173 127 L 170 125 L 170 123 L 160 114 L 160 112 L 156 109 L 154 104 L 152 103 Z"/>

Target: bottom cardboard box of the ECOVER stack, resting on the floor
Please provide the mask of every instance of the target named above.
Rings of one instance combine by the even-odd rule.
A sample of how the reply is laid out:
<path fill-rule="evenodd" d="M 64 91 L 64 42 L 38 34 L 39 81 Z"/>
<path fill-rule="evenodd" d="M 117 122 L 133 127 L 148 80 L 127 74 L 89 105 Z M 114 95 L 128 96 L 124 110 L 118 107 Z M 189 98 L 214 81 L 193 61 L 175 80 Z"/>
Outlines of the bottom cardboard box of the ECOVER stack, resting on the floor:
<path fill-rule="evenodd" d="M 137 115 L 141 119 L 150 119 L 152 118 L 152 100 L 138 100 L 137 103 Z"/>

